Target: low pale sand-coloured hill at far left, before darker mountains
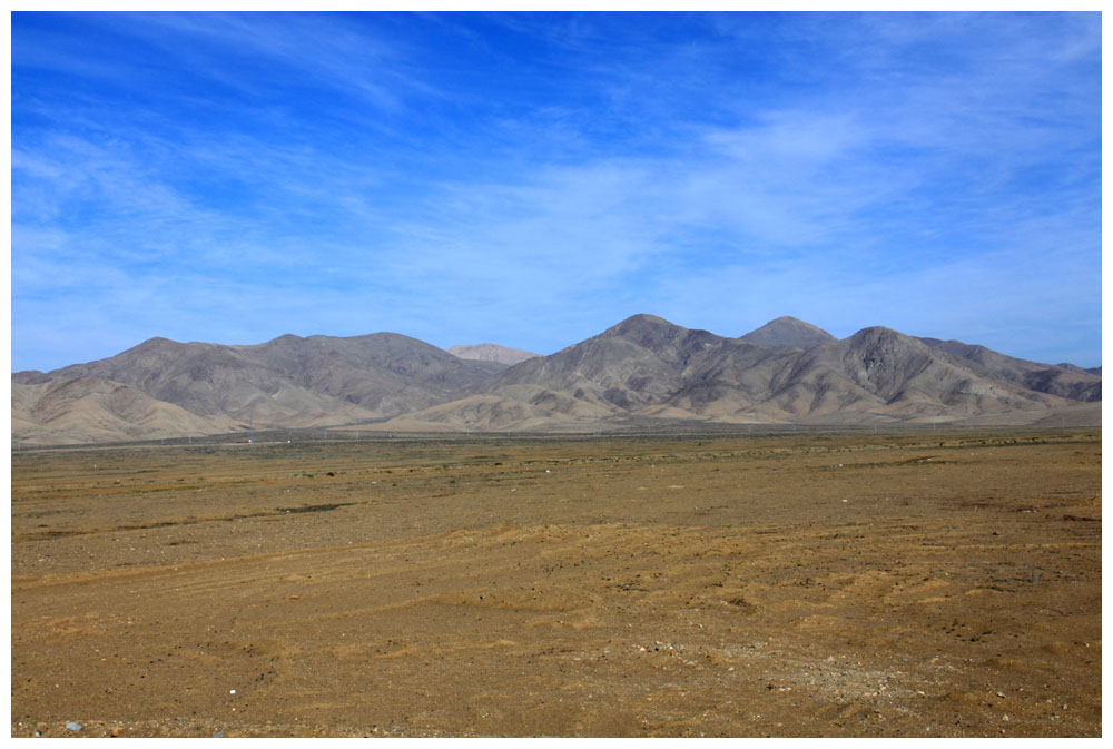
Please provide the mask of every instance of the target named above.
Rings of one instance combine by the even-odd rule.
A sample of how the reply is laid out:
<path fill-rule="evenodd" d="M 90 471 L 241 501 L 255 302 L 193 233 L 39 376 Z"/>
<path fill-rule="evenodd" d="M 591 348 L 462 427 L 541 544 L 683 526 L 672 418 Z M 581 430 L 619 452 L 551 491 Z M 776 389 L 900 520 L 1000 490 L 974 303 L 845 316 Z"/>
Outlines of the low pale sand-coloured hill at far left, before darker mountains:
<path fill-rule="evenodd" d="M 26 444 L 203 436 L 240 427 L 226 416 L 198 416 L 97 377 L 13 383 L 11 390 L 12 434 Z"/>

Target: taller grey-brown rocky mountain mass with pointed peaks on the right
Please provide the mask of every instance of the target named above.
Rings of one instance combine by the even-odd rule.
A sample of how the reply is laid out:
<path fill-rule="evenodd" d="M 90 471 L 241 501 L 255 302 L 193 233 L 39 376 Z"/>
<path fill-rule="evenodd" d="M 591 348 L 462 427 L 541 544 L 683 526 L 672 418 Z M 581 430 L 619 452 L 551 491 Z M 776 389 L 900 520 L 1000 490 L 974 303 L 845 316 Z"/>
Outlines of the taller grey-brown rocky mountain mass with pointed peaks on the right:
<path fill-rule="evenodd" d="M 426 428 L 563 427 L 598 420 L 710 423 L 1028 423 L 1083 400 L 1043 392 L 1054 377 L 1016 382 L 945 346 L 884 327 L 844 341 L 790 318 L 761 335 L 725 338 L 651 315 L 495 375 L 482 392 L 395 420 Z M 810 327 L 810 326 L 809 326 Z M 785 337 L 778 339 L 781 329 Z M 764 339 L 767 345 L 752 343 Z M 807 346 L 805 351 L 801 346 Z M 986 349 L 988 351 L 988 349 Z M 1017 359 L 1018 361 L 1018 359 Z M 1054 368 L 1052 365 L 1044 365 Z M 1083 377 L 1062 372 L 1062 377 Z M 1090 383 L 1097 387 L 1100 380 Z M 1096 411 L 1095 411 L 1096 413 Z"/>

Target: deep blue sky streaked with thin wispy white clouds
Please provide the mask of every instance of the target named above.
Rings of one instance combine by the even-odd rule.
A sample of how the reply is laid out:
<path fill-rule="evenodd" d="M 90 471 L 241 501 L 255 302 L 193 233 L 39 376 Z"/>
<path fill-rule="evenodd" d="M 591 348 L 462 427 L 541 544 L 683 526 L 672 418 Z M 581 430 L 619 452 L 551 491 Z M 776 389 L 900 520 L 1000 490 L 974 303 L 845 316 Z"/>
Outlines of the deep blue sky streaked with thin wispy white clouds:
<path fill-rule="evenodd" d="M 12 14 L 12 368 L 647 312 L 1101 363 L 1097 13 Z"/>

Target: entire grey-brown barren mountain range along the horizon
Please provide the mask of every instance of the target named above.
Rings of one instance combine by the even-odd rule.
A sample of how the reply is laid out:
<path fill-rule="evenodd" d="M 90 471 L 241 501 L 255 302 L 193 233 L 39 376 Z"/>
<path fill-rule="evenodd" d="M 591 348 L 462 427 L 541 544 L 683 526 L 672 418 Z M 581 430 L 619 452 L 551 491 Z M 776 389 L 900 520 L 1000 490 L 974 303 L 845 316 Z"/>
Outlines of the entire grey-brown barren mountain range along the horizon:
<path fill-rule="evenodd" d="M 12 437 L 72 444 L 332 427 L 594 432 L 677 424 L 1100 424 L 1101 368 L 792 317 L 740 337 L 634 315 L 549 356 L 494 344 L 151 338 L 12 375 Z"/>

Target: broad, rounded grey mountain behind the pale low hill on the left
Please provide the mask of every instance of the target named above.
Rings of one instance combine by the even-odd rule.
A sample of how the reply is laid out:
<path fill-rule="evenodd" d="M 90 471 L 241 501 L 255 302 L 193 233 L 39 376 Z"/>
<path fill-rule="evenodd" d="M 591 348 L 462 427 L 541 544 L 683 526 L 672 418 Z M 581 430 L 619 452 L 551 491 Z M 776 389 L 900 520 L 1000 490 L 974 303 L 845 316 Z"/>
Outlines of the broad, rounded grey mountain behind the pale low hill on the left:
<path fill-rule="evenodd" d="M 181 410 L 183 436 L 207 424 L 214 434 L 239 428 L 307 427 L 382 420 L 452 398 L 469 385 L 505 368 L 469 362 L 435 346 L 394 333 L 306 338 L 284 335 L 250 346 L 178 343 L 151 338 L 116 356 L 50 373 L 12 375 L 17 384 L 96 378 L 129 385 L 135 392 Z M 14 395 L 13 395 L 14 398 Z M 14 400 L 13 400 L 14 408 Z M 83 403 L 73 418 L 91 420 Z M 96 420 L 91 420 L 96 422 Z M 100 426 L 71 424 L 75 434 L 100 434 Z M 41 425 L 46 426 L 46 424 Z M 32 438 L 33 431 L 13 434 Z M 167 426 L 130 438 L 165 436 Z M 51 432 L 53 433 L 53 432 Z"/>

